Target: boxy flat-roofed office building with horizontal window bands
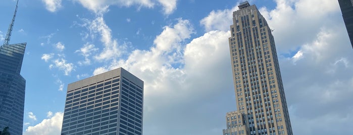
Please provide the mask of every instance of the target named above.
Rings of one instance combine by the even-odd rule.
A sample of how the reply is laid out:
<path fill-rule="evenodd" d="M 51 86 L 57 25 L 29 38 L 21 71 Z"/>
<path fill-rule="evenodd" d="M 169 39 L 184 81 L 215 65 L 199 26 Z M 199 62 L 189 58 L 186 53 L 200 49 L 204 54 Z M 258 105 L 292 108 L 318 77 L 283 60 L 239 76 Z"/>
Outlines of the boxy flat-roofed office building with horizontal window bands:
<path fill-rule="evenodd" d="M 68 85 L 62 134 L 142 134 L 143 81 L 123 68 Z"/>

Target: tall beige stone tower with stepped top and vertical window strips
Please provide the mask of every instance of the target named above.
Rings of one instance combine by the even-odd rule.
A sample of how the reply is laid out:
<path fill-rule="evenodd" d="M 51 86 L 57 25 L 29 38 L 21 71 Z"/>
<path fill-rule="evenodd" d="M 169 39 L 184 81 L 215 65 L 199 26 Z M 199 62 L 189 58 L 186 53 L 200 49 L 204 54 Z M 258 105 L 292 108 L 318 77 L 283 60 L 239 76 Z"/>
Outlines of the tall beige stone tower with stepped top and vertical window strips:
<path fill-rule="evenodd" d="M 227 113 L 223 134 L 291 135 L 272 30 L 255 5 L 238 8 L 229 38 L 237 111 Z"/>

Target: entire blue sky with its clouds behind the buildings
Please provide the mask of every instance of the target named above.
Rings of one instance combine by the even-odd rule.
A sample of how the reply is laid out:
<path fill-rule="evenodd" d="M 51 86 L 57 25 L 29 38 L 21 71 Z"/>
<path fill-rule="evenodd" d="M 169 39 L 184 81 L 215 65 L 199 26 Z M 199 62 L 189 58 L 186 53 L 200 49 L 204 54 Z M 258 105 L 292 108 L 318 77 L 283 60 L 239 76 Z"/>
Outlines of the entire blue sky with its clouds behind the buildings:
<path fill-rule="evenodd" d="M 236 109 L 227 39 L 239 3 L 20 0 L 10 43 L 27 42 L 24 134 L 59 134 L 67 84 L 120 66 L 145 83 L 144 134 L 221 134 Z M 294 134 L 352 134 L 353 49 L 338 2 L 249 3 L 275 30 Z M 0 42 L 15 5 L 1 1 Z"/>

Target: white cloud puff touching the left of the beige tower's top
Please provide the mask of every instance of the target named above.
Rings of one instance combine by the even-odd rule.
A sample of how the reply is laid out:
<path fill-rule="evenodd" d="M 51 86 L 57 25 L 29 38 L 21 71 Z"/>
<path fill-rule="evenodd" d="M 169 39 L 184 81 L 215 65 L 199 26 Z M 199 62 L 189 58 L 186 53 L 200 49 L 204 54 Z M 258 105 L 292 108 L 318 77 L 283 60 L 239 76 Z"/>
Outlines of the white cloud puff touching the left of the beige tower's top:
<path fill-rule="evenodd" d="M 207 17 L 200 21 L 206 31 L 222 30 L 228 31 L 233 24 L 233 11 L 238 10 L 235 6 L 232 9 L 212 11 Z"/>

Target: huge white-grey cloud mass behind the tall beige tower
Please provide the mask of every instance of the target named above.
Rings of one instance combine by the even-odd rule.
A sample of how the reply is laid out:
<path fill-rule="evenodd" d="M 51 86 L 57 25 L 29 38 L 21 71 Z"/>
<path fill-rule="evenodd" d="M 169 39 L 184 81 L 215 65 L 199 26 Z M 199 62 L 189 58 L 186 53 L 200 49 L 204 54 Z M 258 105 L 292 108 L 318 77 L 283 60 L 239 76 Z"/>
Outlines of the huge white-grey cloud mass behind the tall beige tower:
<path fill-rule="evenodd" d="M 353 106 L 349 104 L 349 95 L 353 94 L 350 89 L 353 86 L 351 46 L 338 4 L 333 1 L 313 4 L 315 2 L 318 1 L 278 0 L 275 9 L 260 10 L 275 29 L 273 34 L 279 48 L 277 53 L 293 132 L 349 134 L 343 128 L 353 120 Z M 308 4 L 317 5 L 314 10 L 328 10 L 308 19 L 314 16 L 305 14 L 311 12 L 306 7 Z M 175 125 L 183 131 L 174 134 L 219 133 L 226 127 L 226 112 L 213 110 L 236 109 L 228 46 L 234 10 L 236 7 L 212 11 L 200 21 L 207 33 L 190 43 L 183 41 L 193 33 L 192 25 L 185 23 L 187 20 L 179 20 L 174 26 L 164 27 L 150 49 L 136 49 L 128 58 L 111 60 L 93 74 L 122 66 L 145 81 L 145 133 L 173 134 L 170 131 L 177 130 Z M 224 19 L 229 16 L 228 20 Z M 281 55 L 293 50 L 292 56 Z M 224 101 L 222 105 L 220 101 Z M 229 107 L 224 107 L 225 104 Z M 169 121 L 173 124 L 165 124 Z M 194 126 L 200 124 L 199 121 L 203 121 L 204 127 Z M 217 122 L 220 124 L 214 124 Z"/>

